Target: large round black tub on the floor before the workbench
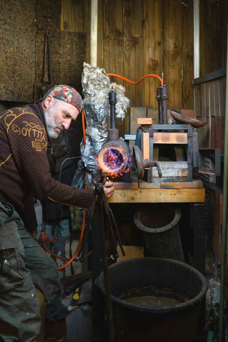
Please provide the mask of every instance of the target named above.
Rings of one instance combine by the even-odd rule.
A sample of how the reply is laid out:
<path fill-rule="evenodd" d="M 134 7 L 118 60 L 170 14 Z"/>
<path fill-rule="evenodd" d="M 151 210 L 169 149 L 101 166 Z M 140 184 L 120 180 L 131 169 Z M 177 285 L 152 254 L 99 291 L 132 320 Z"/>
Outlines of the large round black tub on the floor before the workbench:
<path fill-rule="evenodd" d="M 195 268 L 165 258 L 133 258 L 109 266 L 115 342 L 194 342 L 207 281 Z M 105 295 L 103 272 L 96 285 Z M 145 306 L 120 299 L 128 290 L 168 287 L 188 300 L 176 305 Z"/>

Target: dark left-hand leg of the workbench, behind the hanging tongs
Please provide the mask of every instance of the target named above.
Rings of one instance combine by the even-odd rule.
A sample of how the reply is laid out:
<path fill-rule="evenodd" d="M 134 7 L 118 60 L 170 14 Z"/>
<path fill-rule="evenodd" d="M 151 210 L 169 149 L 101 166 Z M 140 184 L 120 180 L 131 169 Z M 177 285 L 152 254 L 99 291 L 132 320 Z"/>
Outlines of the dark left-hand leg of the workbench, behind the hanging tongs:
<path fill-rule="evenodd" d="M 102 244 L 100 240 L 100 225 L 97 207 L 94 210 L 91 223 L 91 269 L 92 269 L 92 336 L 93 341 L 104 340 L 104 298 L 95 285 L 96 278 L 103 271 Z"/>

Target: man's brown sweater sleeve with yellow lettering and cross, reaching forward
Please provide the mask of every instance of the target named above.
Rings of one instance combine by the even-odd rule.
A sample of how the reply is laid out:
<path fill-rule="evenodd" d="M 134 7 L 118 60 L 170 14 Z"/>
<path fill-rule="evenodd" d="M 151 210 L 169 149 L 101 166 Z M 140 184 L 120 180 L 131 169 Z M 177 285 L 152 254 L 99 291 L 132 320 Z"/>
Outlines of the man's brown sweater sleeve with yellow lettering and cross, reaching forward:
<path fill-rule="evenodd" d="M 32 113 L 23 113 L 11 121 L 7 129 L 12 157 L 26 184 L 36 198 L 68 206 L 89 209 L 93 189 L 78 189 L 51 178 L 46 157 L 46 132 Z"/>

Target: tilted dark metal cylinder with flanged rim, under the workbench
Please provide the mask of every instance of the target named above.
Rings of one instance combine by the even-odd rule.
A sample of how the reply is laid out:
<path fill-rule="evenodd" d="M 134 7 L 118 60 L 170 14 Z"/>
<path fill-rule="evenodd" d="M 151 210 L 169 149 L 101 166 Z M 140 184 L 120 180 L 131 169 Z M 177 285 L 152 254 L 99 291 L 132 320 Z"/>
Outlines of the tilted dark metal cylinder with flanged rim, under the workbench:
<path fill-rule="evenodd" d="M 170 203 L 150 204 L 135 212 L 135 225 L 143 232 L 151 257 L 184 262 L 178 225 L 180 216 L 180 208 Z"/>

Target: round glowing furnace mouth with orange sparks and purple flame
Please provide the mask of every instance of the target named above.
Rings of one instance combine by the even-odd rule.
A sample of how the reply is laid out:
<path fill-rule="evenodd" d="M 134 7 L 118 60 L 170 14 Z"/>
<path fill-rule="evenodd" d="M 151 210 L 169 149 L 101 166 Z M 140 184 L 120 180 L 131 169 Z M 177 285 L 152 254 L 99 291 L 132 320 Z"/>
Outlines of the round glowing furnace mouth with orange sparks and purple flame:
<path fill-rule="evenodd" d="M 111 143 L 100 149 L 98 165 L 112 179 L 123 176 L 130 171 L 130 154 L 121 145 Z"/>

